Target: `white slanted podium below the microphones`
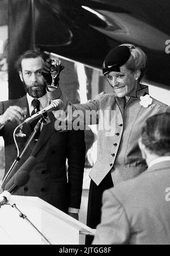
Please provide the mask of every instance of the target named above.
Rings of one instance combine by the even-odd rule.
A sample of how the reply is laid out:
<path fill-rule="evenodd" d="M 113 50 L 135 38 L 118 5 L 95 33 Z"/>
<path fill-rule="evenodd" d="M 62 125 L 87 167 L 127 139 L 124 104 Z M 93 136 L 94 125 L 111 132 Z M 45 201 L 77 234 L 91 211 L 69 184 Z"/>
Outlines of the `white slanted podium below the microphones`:
<path fill-rule="evenodd" d="M 52 245 L 78 245 L 79 232 L 95 230 L 66 213 L 33 196 L 11 196 L 9 204 L 0 208 L 1 245 L 44 245 L 41 236 L 19 216 L 16 207 L 27 216 Z"/>

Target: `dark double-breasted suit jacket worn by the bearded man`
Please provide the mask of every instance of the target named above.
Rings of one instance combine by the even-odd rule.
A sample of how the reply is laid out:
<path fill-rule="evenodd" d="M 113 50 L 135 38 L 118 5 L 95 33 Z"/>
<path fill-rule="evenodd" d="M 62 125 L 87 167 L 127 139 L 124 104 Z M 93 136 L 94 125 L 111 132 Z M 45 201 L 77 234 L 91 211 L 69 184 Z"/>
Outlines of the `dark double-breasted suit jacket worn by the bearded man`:
<path fill-rule="evenodd" d="M 27 97 L 7 100 L 0 103 L 0 115 L 9 106 L 29 108 Z M 58 133 L 54 128 L 56 121 L 54 115 L 49 113 L 50 123 L 43 126 L 39 140 L 33 140 L 24 156 L 19 161 L 20 166 L 32 155 L 37 159 L 37 164 L 31 171 L 29 182 L 19 188 L 15 195 L 38 196 L 58 209 L 67 212 L 68 207 L 79 208 L 82 195 L 82 182 L 85 159 L 85 142 L 83 131 L 67 131 Z M 16 148 L 13 139 L 13 132 L 16 123 L 7 123 L 1 129 L 1 136 L 5 140 L 5 173 L 10 169 L 16 158 Z M 31 125 L 24 124 L 23 132 L 25 138 L 17 138 L 20 152 L 25 142 L 32 133 Z M 66 175 L 66 158 L 68 160 L 68 182 Z M 15 170 L 15 171 L 16 171 Z"/>

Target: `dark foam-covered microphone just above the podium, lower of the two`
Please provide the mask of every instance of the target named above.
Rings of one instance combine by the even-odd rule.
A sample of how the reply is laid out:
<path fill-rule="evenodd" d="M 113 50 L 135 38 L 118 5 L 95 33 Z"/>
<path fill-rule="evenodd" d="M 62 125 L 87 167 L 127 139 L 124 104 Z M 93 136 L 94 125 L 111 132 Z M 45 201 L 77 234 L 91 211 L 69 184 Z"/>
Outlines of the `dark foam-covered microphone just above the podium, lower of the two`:
<path fill-rule="evenodd" d="M 24 162 L 24 164 L 16 171 L 14 176 L 5 185 L 5 190 L 14 192 L 19 187 L 23 187 L 29 181 L 29 174 L 36 165 L 36 158 L 31 156 Z"/>

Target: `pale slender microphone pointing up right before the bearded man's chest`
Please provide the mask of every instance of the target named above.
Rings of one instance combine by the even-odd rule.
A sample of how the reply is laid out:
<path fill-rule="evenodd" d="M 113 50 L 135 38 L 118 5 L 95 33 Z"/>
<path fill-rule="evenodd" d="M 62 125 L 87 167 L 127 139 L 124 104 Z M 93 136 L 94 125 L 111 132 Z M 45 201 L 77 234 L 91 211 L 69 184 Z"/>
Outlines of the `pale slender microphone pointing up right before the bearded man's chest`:
<path fill-rule="evenodd" d="M 49 104 L 48 107 L 43 108 L 43 110 L 40 110 L 39 112 L 32 115 L 31 117 L 28 117 L 27 119 L 25 119 L 22 124 L 24 124 L 24 123 L 28 124 L 48 112 L 52 112 L 54 110 L 59 110 L 62 107 L 62 105 L 63 105 L 63 101 L 61 99 L 55 99 L 55 100 L 53 100 L 52 103 Z"/>

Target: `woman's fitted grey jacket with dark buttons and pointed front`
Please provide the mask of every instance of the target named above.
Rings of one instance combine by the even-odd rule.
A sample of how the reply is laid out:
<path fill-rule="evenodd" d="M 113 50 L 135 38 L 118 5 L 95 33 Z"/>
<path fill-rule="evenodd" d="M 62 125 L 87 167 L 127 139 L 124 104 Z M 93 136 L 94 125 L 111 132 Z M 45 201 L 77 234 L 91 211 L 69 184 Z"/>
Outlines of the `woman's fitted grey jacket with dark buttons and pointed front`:
<path fill-rule="evenodd" d="M 84 116 L 84 123 L 97 124 L 100 120 L 86 118 L 86 111 L 109 111 L 110 123 L 114 128 L 107 135 L 106 129 L 99 129 L 97 139 L 97 161 L 92 167 L 90 178 L 97 184 L 111 171 L 114 185 L 118 182 L 134 178 L 147 169 L 145 160 L 142 159 L 138 146 L 142 125 L 152 115 L 170 111 L 170 107 L 152 98 L 148 107 L 143 107 L 140 96 L 148 94 L 148 87 L 141 85 L 136 97 L 131 97 L 124 106 L 124 99 L 114 94 L 100 93 L 94 100 L 88 100 L 86 104 L 71 104 L 61 89 L 48 93 L 49 98 L 60 98 L 63 100 L 63 109 L 71 105 L 74 110 L 80 110 Z M 113 114 L 113 115 L 112 115 Z M 114 116 L 114 118 L 113 118 Z"/>

